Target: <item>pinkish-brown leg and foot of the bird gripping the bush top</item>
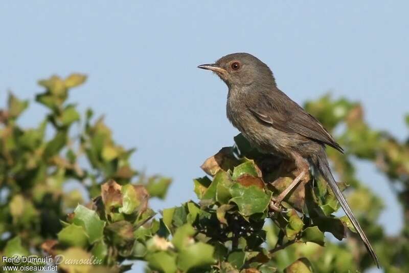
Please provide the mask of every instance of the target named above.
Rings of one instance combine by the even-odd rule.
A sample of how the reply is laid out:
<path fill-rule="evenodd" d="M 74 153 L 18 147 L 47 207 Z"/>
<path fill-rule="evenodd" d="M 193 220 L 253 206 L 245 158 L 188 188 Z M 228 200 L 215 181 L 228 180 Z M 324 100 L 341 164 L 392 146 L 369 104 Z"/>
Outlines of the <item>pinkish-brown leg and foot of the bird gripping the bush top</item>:
<path fill-rule="evenodd" d="M 310 180 L 310 175 L 309 175 L 309 164 L 308 161 L 305 160 L 301 155 L 298 153 L 293 153 L 293 158 L 294 158 L 294 163 L 296 164 L 297 171 L 299 174 L 297 175 L 294 180 L 284 189 L 283 192 L 280 193 L 280 195 L 275 198 L 274 200 L 270 201 L 270 209 L 273 211 L 277 212 L 282 212 L 282 209 L 279 207 L 281 201 L 288 195 L 291 190 L 300 183 L 300 181 L 303 184 L 306 184 Z"/>

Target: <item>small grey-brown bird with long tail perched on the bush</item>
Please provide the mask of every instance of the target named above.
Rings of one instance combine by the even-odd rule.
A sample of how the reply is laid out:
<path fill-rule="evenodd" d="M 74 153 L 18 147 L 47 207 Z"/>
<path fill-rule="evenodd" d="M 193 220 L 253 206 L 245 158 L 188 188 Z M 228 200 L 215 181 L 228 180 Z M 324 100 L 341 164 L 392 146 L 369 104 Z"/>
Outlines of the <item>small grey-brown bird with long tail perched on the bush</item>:
<path fill-rule="evenodd" d="M 310 181 L 310 167 L 319 171 L 379 268 L 375 250 L 331 173 L 325 146 L 344 151 L 320 121 L 282 92 L 270 68 L 251 54 L 225 55 L 198 68 L 213 71 L 228 86 L 227 117 L 252 146 L 294 162 L 296 178 L 270 202 L 270 208 L 280 211 L 280 202 L 292 188 Z"/>

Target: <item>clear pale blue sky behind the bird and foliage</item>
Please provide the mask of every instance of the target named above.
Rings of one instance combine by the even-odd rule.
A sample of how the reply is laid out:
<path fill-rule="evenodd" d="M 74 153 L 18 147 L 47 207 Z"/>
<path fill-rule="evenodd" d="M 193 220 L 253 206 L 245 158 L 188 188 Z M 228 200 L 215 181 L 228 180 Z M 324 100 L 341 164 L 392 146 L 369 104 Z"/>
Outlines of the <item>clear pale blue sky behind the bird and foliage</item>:
<path fill-rule="evenodd" d="M 226 87 L 197 65 L 249 52 L 299 103 L 329 90 L 359 100 L 369 123 L 407 136 L 409 20 L 406 1 L 2 1 L 0 101 L 33 98 L 51 74 L 89 75 L 71 101 L 105 114 L 119 143 L 136 146 L 139 169 L 174 178 L 166 202 L 193 194 L 199 165 L 237 131 L 225 117 Z M 35 106 L 22 118 L 34 124 Z M 374 167 L 361 177 L 385 197 L 380 221 L 400 222 L 389 186 Z"/>

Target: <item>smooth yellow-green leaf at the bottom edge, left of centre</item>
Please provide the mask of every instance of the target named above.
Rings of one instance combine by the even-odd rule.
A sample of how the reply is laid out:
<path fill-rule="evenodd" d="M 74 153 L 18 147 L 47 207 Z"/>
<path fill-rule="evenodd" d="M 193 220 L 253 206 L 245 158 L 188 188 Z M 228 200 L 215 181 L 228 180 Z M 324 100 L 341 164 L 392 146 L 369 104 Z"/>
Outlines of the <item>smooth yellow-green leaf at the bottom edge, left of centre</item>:
<path fill-rule="evenodd" d="M 180 251 L 177 267 L 183 271 L 215 263 L 213 258 L 214 247 L 202 242 L 195 243 Z"/>

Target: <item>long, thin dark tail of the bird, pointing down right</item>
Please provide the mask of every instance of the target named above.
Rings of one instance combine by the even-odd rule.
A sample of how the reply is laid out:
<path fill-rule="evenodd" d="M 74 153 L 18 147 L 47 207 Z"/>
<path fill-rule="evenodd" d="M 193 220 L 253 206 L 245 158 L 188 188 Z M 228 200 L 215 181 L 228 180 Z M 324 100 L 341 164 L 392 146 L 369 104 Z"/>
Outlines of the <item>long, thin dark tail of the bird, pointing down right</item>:
<path fill-rule="evenodd" d="M 334 192 L 334 195 L 338 199 L 339 203 L 341 204 L 342 208 L 344 209 L 344 212 L 347 214 L 349 220 L 351 221 L 352 225 L 354 226 L 356 232 L 359 234 L 359 237 L 365 244 L 365 246 L 368 249 L 369 254 L 372 256 L 372 259 L 374 260 L 376 266 L 379 268 L 379 259 L 375 254 L 375 250 L 372 248 L 371 243 L 369 242 L 367 236 L 365 233 L 363 233 L 363 230 L 361 226 L 359 225 L 358 221 L 356 220 L 354 214 L 351 211 L 351 208 L 349 207 L 347 200 L 345 199 L 344 195 L 342 192 L 339 190 L 339 187 L 337 183 L 335 182 L 334 177 L 332 176 L 330 167 L 328 165 L 328 161 L 326 156 L 324 157 L 317 157 L 317 161 L 319 163 L 319 170 L 323 178 L 327 181 L 329 186 L 331 187 L 332 192 Z"/>

